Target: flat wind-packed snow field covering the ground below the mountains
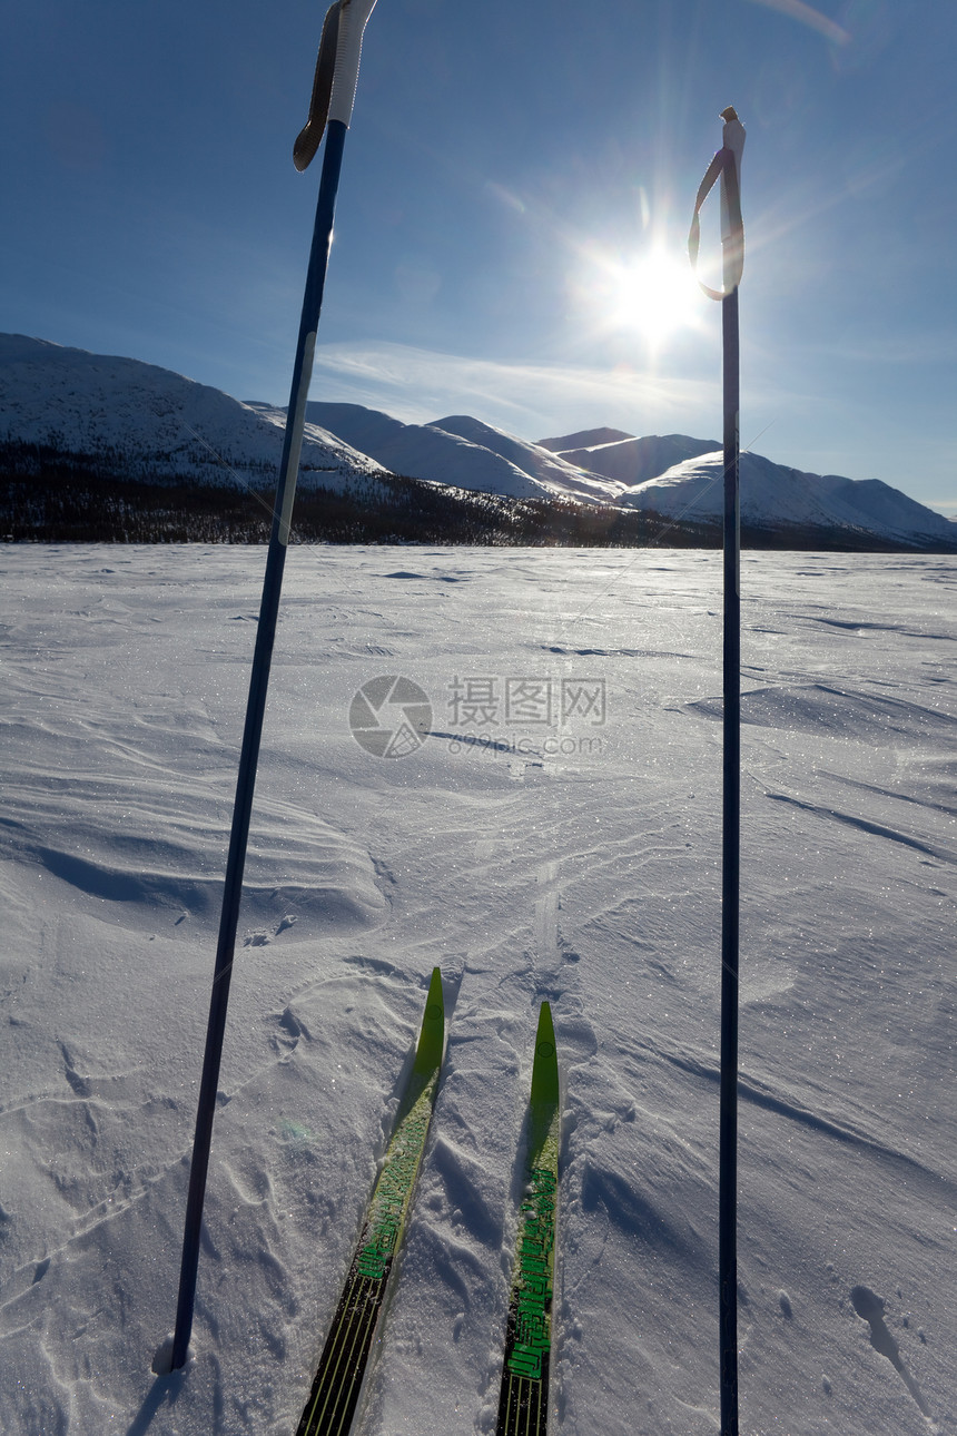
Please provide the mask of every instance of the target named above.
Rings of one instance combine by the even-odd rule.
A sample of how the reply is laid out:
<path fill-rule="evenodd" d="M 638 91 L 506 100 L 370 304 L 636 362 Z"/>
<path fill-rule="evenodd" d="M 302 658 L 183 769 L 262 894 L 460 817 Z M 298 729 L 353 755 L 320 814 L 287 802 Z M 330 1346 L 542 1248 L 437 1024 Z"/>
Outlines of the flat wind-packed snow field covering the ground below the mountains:
<path fill-rule="evenodd" d="M 151 1370 L 263 563 L 0 549 L 0 1426 L 296 1429 L 439 964 L 446 1061 L 359 1430 L 494 1429 L 548 998 L 554 1429 L 712 1436 L 717 553 L 290 550 L 194 1356 Z M 742 573 L 742 1432 L 946 1436 L 957 559 Z M 379 758 L 349 714 L 392 675 L 433 717 Z"/>

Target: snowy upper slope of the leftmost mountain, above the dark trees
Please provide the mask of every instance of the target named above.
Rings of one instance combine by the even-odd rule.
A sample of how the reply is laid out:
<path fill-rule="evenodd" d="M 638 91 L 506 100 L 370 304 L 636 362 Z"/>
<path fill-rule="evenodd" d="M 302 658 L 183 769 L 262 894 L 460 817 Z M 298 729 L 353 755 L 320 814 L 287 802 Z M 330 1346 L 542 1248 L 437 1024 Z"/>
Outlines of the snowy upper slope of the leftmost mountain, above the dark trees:
<path fill-rule="evenodd" d="M 281 411 L 257 412 L 171 369 L 0 335 L 0 442 L 100 461 L 126 478 L 263 485 L 283 449 Z M 382 465 L 310 425 L 301 480 L 326 487 Z"/>

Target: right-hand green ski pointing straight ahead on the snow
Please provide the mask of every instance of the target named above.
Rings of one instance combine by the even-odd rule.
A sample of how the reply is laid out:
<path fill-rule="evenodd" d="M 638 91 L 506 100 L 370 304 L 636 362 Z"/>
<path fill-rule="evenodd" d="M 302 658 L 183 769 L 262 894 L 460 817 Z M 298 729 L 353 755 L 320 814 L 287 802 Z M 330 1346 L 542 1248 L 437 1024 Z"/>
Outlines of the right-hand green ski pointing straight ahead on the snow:
<path fill-rule="evenodd" d="M 545 1436 L 548 1429 L 560 1126 L 555 1028 L 551 1008 L 542 1002 L 532 1064 L 525 1196 L 518 1213 L 495 1436 Z"/>

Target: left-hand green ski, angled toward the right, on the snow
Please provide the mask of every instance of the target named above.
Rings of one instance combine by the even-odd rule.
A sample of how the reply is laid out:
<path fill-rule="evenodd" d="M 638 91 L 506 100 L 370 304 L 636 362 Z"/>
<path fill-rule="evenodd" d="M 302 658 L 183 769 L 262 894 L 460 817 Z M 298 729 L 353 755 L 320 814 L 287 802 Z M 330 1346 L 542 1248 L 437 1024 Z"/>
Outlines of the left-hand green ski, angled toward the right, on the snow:
<path fill-rule="evenodd" d="M 402 1242 L 429 1132 L 445 1043 L 442 976 L 432 972 L 409 1087 L 382 1170 L 369 1198 L 359 1245 L 326 1337 L 296 1436 L 347 1436 L 382 1315 L 389 1272 Z"/>

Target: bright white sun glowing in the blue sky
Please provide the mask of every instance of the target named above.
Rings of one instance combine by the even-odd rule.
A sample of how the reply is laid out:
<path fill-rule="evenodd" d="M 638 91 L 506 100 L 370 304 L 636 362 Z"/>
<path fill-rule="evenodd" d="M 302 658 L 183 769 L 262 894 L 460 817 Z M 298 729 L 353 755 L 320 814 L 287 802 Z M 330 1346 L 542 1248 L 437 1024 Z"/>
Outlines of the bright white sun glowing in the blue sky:
<path fill-rule="evenodd" d="M 700 290 L 692 267 L 666 248 L 633 258 L 591 256 L 585 290 L 603 329 L 641 335 L 660 349 L 682 329 L 700 325 Z"/>

